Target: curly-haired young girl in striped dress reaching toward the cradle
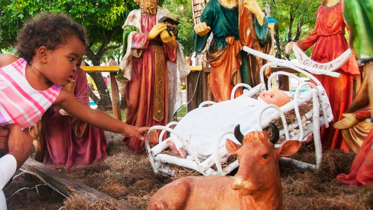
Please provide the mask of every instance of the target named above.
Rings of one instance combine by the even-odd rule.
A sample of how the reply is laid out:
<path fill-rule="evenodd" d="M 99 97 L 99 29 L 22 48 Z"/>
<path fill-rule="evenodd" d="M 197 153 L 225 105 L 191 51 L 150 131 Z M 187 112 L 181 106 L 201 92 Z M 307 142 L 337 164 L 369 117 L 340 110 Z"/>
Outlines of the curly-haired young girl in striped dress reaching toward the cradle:
<path fill-rule="evenodd" d="M 38 122 L 51 105 L 88 124 L 144 140 L 135 127 L 79 102 L 67 89 L 85 54 L 85 29 L 65 14 L 42 12 L 19 30 L 17 53 L 0 55 L 0 126 Z"/>

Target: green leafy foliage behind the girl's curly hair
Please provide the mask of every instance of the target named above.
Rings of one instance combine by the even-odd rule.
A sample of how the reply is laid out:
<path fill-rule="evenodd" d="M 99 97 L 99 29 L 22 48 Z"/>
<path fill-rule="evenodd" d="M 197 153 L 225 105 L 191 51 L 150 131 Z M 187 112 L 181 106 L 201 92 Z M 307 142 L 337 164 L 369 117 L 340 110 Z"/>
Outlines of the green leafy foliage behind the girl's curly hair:
<path fill-rule="evenodd" d="M 111 41 L 121 42 L 119 29 L 136 6 L 128 0 L 1 0 L 0 50 L 14 46 L 18 29 L 40 11 L 69 14 L 87 29 L 89 45 L 104 42 L 105 35 L 110 35 Z M 116 33 L 110 34 L 112 31 Z"/>

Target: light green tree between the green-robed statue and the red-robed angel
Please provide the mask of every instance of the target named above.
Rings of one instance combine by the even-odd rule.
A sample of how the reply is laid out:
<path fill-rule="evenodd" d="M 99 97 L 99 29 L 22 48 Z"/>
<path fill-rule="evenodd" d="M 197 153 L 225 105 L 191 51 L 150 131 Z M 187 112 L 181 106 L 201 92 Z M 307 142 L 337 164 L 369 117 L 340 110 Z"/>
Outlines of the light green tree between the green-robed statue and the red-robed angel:
<path fill-rule="evenodd" d="M 285 46 L 290 41 L 298 41 L 309 35 L 316 21 L 316 11 L 320 1 L 272 0 L 271 16 L 278 20 L 274 27 L 276 57 L 287 56 Z M 312 48 L 306 51 L 309 55 Z"/>

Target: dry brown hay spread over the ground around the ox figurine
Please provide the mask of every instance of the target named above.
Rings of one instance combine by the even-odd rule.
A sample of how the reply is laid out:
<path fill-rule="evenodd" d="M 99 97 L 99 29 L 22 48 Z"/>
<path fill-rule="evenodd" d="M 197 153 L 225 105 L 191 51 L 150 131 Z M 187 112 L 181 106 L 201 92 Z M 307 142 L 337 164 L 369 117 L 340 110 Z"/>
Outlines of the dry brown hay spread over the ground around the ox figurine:
<path fill-rule="evenodd" d="M 139 210 L 146 209 L 152 195 L 163 185 L 172 181 L 170 177 L 154 175 L 146 156 L 128 151 L 122 146 L 121 137 L 107 132 L 108 155 L 104 161 L 87 167 L 56 170 L 79 179 L 86 185 L 98 189 L 114 198 L 123 200 Z M 314 152 L 305 146 L 293 156 L 303 161 L 315 161 Z M 317 171 L 299 169 L 289 163 L 280 162 L 280 173 L 287 210 L 372 210 L 373 188 L 347 186 L 339 183 L 335 176 L 348 173 L 355 155 L 339 150 L 326 151 Z M 116 210 L 115 204 L 105 200 L 87 202 L 85 197 L 73 196 L 65 199 L 46 186 L 38 191 L 22 190 L 42 184 L 34 175 L 20 175 L 11 186 L 4 189 L 9 198 L 9 210 Z"/>

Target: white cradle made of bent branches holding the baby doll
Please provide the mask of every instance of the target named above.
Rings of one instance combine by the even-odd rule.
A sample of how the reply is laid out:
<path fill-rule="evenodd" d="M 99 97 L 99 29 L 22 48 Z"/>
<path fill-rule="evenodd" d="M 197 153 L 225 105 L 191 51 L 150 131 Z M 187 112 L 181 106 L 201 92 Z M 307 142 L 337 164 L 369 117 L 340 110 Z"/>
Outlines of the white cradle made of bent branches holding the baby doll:
<path fill-rule="evenodd" d="M 235 86 L 235 88 L 232 91 L 231 99 L 233 99 L 234 92 L 240 86 L 244 86 L 249 89 L 248 91 L 244 92 L 244 95 L 247 97 L 252 97 L 255 94 L 257 94 L 259 91 L 271 90 L 271 79 L 277 75 L 281 75 L 281 74 L 287 75 L 289 77 L 292 77 L 298 80 L 300 85 L 295 90 L 293 100 L 282 107 L 277 107 L 276 105 L 268 105 L 267 107 L 263 108 L 261 113 L 263 113 L 264 110 L 270 107 L 275 108 L 277 112 L 271 114 L 271 116 L 265 119 L 264 121 L 261 121 L 260 116 L 259 116 L 257 123 L 258 125 L 261 125 L 261 126 L 257 126 L 257 127 L 259 127 L 259 129 L 262 130 L 262 128 L 268 127 L 270 122 L 273 122 L 274 120 L 281 118 L 284 128 L 280 130 L 280 136 L 285 136 L 286 140 L 303 141 L 303 140 L 306 140 L 306 137 L 308 135 L 313 134 L 316 164 L 305 163 L 305 162 L 301 162 L 298 160 L 285 158 L 285 157 L 282 157 L 282 159 L 292 161 L 299 167 L 311 167 L 311 168 L 316 169 L 319 167 L 320 162 L 322 160 L 320 127 L 324 125 L 325 127 L 328 127 L 329 123 L 333 120 L 333 115 L 332 115 L 332 111 L 330 108 L 329 99 L 326 96 L 324 88 L 322 87 L 321 83 L 307 71 L 298 68 L 298 67 L 305 67 L 305 66 L 297 64 L 296 66 L 298 67 L 296 67 L 292 65 L 291 63 L 286 63 L 286 62 L 284 63 L 282 60 L 281 62 L 278 62 L 278 60 L 276 60 L 273 57 L 271 57 L 271 59 L 275 60 L 276 62 L 271 62 L 269 64 L 264 65 L 261 68 L 261 71 L 260 71 L 261 83 L 255 86 L 254 88 L 251 88 L 246 84 L 238 84 L 237 86 Z M 266 88 L 266 85 L 264 83 L 263 71 L 267 67 L 275 66 L 275 65 L 282 66 L 282 67 L 288 67 L 288 68 L 297 70 L 300 73 L 303 73 L 307 77 L 314 80 L 317 86 L 315 86 L 314 84 L 310 82 L 305 82 L 304 80 L 302 80 L 301 78 L 299 78 L 298 76 L 294 74 L 284 72 L 284 71 L 278 71 L 278 72 L 271 74 L 271 76 L 268 79 L 268 84 Z M 312 69 L 312 68 L 310 69 L 309 67 L 305 67 L 304 69 L 315 72 L 315 69 Z M 329 72 L 329 73 L 335 73 L 335 72 Z M 338 76 L 337 73 L 336 75 Z M 303 92 L 301 94 L 302 97 L 298 97 L 303 87 L 309 87 L 310 90 L 307 92 Z M 301 116 L 299 113 L 298 106 L 306 102 L 312 102 L 312 109 L 310 109 L 307 113 Z M 200 107 L 206 104 L 214 104 L 214 102 L 203 102 L 201 103 Z M 284 113 L 287 113 L 288 111 L 293 110 L 293 109 L 295 111 L 297 121 L 292 124 L 287 124 Z M 306 121 L 310 121 L 310 123 L 303 125 Z M 172 122 L 172 123 L 167 124 L 166 126 L 159 126 L 159 125 L 153 126 L 150 128 L 146 136 L 145 146 L 146 146 L 147 154 L 148 154 L 150 163 L 153 167 L 154 173 L 162 173 L 164 175 L 173 175 L 174 169 L 171 166 L 172 164 L 198 171 L 199 173 L 203 175 L 227 175 L 238 167 L 239 164 L 237 160 L 229 163 L 225 167 L 222 167 L 220 163 L 221 158 L 229 155 L 225 146 L 220 148 L 220 140 L 227 134 L 233 134 L 233 129 L 222 133 L 220 138 L 217 139 L 217 141 L 215 142 L 215 145 L 214 145 L 215 152 L 211 156 L 207 157 L 206 159 L 202 161 L 197 157 L 197 154 L 193 154 L 193 150 L 190 148 L 187 141 L 184 140 L 180 135 L 177 134 L 177 132 L 175 132 L 171 128 L 171 126 L 174 126 L 176 124 L 177 122 Z M 182 157 L 176 157 L 176 156 L 162 153 L 164 150 L 168 148 L 168 144 L 166 140 L 160 141 L 153 148 L 150 148 L 150 145 L 149 145 L 150 134 L 153 130 L 157 130 L 157 129 L 162 130 L 159 136 L 159 140 L 163 139 L 163 135 L 165 135 L 166 132 L 173 133 L 177 138 L 179 138 L 181 142 L 183 142 L 183 146 L 186 148 L 186 150 L 189 151 L 190 153 L 189 156 L 187 158 L 182 158 Z M 295 133 L 290 132 L 294 129 L 297 129 L 298 131 Z M 242 131 L 242 133 L 244 133 L 244 131 Z M 275 147 L 278 147 L 278 146 L 280 145 L 279 144 L 275 145 Z"/>

